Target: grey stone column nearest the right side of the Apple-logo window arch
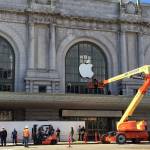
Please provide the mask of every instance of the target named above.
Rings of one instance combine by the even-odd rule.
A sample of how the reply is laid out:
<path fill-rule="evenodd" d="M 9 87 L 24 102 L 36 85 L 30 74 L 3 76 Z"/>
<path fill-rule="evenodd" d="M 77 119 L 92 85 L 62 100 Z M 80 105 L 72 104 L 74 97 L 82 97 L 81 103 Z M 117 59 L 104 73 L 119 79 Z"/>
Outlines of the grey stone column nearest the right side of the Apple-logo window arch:
<path fill-rule="evenodd" d="M 126 45 L 126 33 L 121 31 L 120 33 L 120 57 L 121 57 L 121 72 L 125 73 L 128 71 L 128 61 L 127 61 L 127 45 Z"/>

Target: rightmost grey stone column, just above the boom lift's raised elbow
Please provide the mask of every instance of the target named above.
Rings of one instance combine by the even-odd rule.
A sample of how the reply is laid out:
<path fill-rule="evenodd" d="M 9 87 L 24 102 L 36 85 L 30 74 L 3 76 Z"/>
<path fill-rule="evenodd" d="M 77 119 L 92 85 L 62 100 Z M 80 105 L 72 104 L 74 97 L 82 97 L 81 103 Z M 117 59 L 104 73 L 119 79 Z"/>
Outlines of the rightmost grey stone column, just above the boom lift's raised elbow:
<path fill-rule="evenodd" d="M 143 34 L 138 33 L 138 56 L 139 56 L 139 66 L 144 65 L 144 48 L 143 48 Z"/>

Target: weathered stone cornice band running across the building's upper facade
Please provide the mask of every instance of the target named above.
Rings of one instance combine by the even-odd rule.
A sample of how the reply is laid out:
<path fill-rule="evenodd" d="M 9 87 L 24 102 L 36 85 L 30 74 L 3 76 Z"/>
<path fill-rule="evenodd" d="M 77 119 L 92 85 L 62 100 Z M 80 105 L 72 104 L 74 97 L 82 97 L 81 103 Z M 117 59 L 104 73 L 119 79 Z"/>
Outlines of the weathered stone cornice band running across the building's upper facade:
<path fill-rule="evenodd" d="M 123 14 L 111 17 L 81 17 L 61 14 L 57 9 L 51 11 L 35 11 L 28 9 L 2 9 L 0 8 L 0 21 L 12 23 L 35 23 L 51 24 L 59 27 L 87 29 L 87 30 L 107 30 L 129 32 L 142 32 L 150 34 L 150 19 L 142 18 L 139 14 Z"/>

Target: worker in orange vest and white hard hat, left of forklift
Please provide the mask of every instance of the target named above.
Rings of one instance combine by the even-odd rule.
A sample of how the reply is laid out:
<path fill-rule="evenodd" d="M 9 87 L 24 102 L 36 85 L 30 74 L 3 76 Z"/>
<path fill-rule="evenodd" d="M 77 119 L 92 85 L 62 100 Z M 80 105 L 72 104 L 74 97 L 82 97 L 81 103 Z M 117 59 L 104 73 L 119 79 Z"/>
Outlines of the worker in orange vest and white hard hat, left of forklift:
<path fill-rule="evenodd" d="M 23 129 L 23 143 L 25 147 L 28 147 L 29 137 L 30 131 L 28 129 L 28 126 L 25 126 L 25 128 Z"/>

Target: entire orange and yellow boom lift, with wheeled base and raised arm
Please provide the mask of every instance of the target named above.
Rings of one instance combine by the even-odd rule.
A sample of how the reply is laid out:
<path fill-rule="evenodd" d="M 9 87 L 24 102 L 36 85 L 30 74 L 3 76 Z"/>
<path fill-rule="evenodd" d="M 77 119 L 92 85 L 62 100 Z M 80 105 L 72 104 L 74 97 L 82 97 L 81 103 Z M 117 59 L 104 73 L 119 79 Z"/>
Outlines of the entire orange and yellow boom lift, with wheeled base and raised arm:
<path fill-rule="evenodd" d="M 139 105 L 143 96 L 147 92 L 148 87 L 150 86 L 150 65 L 145 65 L 132 71 L 112 77 L 108 80 L 104 80 L 99 83 L 99 86 L 105 86 L 111 82 L 118 81 L 124 78 L 131 78 L 135 75 L 142 75 L 145 81 L 143 85 L 138 89 L 137 94 L 127 107 L 120 121 L 117 123 L 117 131 L 104 134 L 101 138 L 102 143 L 117 142 L 118 144 L 124 144 L 127 140 L 131 140 L 133 143 L 139 143 L 140 141 L 149 140 L 146 121 L 129 121 L 128 117 L 133 114 L 134 110 Z"/>

